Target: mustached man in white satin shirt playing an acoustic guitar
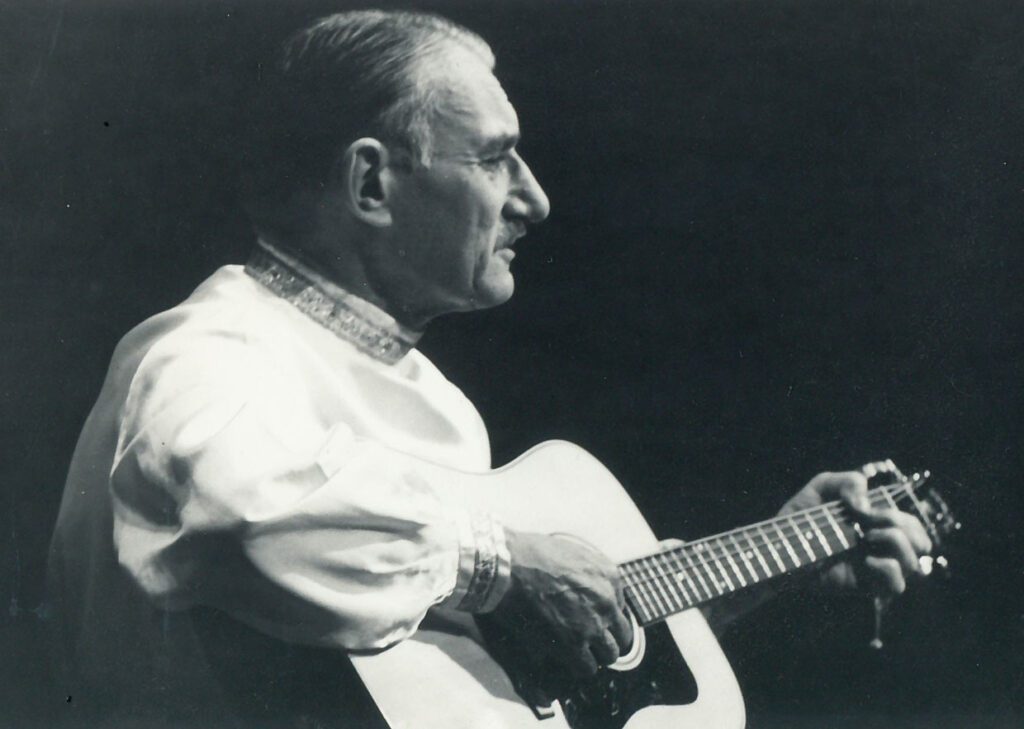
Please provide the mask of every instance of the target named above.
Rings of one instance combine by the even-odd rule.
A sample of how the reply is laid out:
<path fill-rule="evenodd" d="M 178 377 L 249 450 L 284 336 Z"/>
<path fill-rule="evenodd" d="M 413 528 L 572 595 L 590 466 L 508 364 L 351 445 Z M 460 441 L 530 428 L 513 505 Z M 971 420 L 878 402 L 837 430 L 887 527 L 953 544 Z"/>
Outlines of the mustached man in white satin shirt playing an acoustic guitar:
<path fill-rule="evenodd" d="M 344 652 L 435 606 L 542 635 L 538 660 L 577 676 L 631 646 L 604 556 L 423 475 L 490 457 L 420 332 L 508 300 L 513 246 L 549 212 L 493 68 L 479 37 L 416 13 L 342 13 L 286 45 L 252 258 L 122 340 L 72 463 L 51 576 L 79 725 L 360 726 Z M 862 573 L 899 593 L 930 544 L 865 486 L 822 474 L 784 508 L 842 496 Z"/>

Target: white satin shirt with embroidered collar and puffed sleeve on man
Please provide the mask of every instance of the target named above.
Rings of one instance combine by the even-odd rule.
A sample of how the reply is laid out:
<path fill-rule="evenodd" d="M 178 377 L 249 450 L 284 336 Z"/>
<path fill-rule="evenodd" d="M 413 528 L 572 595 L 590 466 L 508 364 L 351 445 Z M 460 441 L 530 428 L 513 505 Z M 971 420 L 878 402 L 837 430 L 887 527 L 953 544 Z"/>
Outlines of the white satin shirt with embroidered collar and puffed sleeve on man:
<path fill-rule="evenodd" d="M 367 649 L 507 588 L 501 526 L 417 472 L 489 468 L 477 411 L 415 333 L 261 245 L 122 340 L 79 440 L 51 573 L 90 682 L 207 690 L 175 688 L 206 660 L 186 608 Z"/>

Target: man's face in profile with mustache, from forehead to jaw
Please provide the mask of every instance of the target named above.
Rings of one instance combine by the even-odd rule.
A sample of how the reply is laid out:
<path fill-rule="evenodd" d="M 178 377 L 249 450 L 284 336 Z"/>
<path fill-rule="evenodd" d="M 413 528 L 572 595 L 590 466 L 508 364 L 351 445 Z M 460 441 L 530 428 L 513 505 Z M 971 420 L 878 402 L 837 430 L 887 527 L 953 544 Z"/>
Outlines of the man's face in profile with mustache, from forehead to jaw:
<path fill-rule="evenodd" d="M 519 123 L 501 84 L 469 53 L 446 60 L 431 81 L 430 161 L 398 173 L 391 197 L 389 277 L 401 291 L 387 294 L 413 324 L 507 301 L 512 245 L 549 211 L 515 151 Z"/>

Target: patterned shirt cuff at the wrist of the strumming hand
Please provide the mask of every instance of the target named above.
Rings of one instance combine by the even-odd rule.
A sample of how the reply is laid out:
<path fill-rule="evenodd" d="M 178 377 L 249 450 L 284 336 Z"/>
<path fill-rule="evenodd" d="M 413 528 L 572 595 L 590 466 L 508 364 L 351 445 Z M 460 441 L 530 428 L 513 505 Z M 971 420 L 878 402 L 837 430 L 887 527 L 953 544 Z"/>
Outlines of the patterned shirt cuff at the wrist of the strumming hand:
<path fill-rule="evenodd" d="M 445 605 L 463 612 L 490 612 L 512 584 L 505 529 L 488 514 L 458 520 L 459 573 Z"/>

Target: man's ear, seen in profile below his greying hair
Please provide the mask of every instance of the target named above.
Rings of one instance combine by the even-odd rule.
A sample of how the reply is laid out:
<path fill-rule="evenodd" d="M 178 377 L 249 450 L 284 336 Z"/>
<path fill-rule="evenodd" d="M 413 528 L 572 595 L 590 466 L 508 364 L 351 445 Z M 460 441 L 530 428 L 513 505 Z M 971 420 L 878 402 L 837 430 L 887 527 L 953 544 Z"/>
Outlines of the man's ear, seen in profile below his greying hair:
<path fill-rule="evenodd" d="M 356 139 L 345 149 L 336 172 L 342 203 L 356 219 L 374 227 L 391 224 L 391 170 L 384 144 L 373 137 Z"/>

